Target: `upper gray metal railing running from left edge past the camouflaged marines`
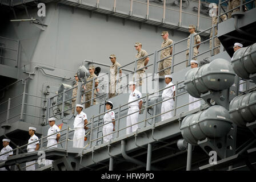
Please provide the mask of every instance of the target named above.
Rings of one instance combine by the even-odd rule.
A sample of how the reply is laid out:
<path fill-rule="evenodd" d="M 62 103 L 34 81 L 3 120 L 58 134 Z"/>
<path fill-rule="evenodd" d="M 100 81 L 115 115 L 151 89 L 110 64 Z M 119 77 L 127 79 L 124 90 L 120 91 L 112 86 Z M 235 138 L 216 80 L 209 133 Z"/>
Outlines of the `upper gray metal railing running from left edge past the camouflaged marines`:
<path fill-rule="evenodd" d="M 213 37 L 212 38 L 209 38 L 209 39 L 206 39 L 206 40 L 204 40 L 203 42 L 201 42 L 201 43 L 199 43 L 199 44 L 196 44 L 196 45 L 193 45 L 193 43 L 194 43 L 194 36 L 195 35 L 193 35 L 193 36 L 191 36 L 191 38 L 185 38 L 185 39 L 182 39 L 182 40 L 179 40 L 179 41 L 177 41 L 177 42 L 173 42 L 173 44 L 171 44 L 170 46 L 167 46 L 167 47 L 165 47 L 165 48 L 161 48 L 161 49 L 158 49 L 157 51 L 154 51 L 153 53 L 149 53 L 149 55 L 147 55 L 147 56 L 145 56 L 145 57 L 150 57 L 150 60 L 153 60 L 153 61 L 149 61 L 149 64 L 148 65 L 146 65 L 145 67 L 143 67 L 143 68 L 153 68 L 153 72 L 152 72 L 152 75 L 153 75 L 153 78 L 154 78 L 154 75 L 156 74 L 156 73 L 159 73 L 159 72 L 161 72 L 161 71 L 164 71 L 165 69 L 171 69 L 171 73 L 174 73 L 174 68 L 175 67 L 177 67 L 178 65 L 180 65 L 180 64 L 182 64 L 182 63 L 185 63 L 186 61 L 188 62 L 188 65 L 190 65 L 190 61 L 189 60 L 191 60 L 191 59 L 194 59 L 195 57 L 199 57 L 199 56 L 205 56 L 205 57 L 209 57 L 209 56 L 213 56 L 214 55 L 214 49 L 215 48 L 218 48 L 219 46 L 216 46 L 216 47 L 214 47 L 214 38 L 217 38 L 217 35 L 215 36 L 215 34 L 214 34 L 214 31 L 215 31 L 215 28 L 214 27 L 217 27 L 218 25 L 217 24 L 215 24 L 215 25 L 213 25 L 212 27 L 210 27 L 210 28 L 207 28 L 206 30 L 203 30 L 203 31 L 201 31 L 201 32 L 198 32 L 197 34 L 195 34 L 195 35 L 201 35 L 203 32 L 207 32 L 207 31 L 210 31 L 210 30 L 212 30 L 213 31 Z M 188 39 L 190 39 L 190 48 L 185 48 L 184 47 L 184 49 L 182 49 L 181 51 L 177 51 L 177 46 L 179 46 L 179 44 L 184 44 L 184 42 L 186 43 L 187 42 L 187 40 Z M 194 47 L 196 47 L 196 46 L 199 46 L 199 45 L 201 45 L 201 44 L 204 44 L 204 43 L 206 43 L 206 42 L 209 42 L 210 40 L 212 40 L 212 47 L 211 47 L 211 49 L 207 49 L 207 51 L 205 51 L 205 52 L 202 52 L 202 53 L 199 53 L 198 55 L 196 55 L 196 56 L 193 56 L 193 48 Z M 163 61 L 164 59 L 159 59 L 158 58 L 158 56 L 159 56 L 159 53 L 161 53 L 161 51 L 162 50 L 164 50 L 164 49 L 166 49 L 166 48 L 169 48 L 169 47 L 173 47 L 173 53 L 170 55 L 170 56 L 167 56 L 167 57 L 165 57 L 164 59 L 167 59 L 167 58 L 169 58 L 169 57 L 172 57 L 172 63 L 171 63 L 171 66 L 170 67 L 168 67 L 168 68 L 165 68 L 165 69 L 162 69 L 162 70 L 158 70 L 158 64 L 159 64 L 159 62 L 161 62 L 161 61 Z M 180 49 L 180 48 L 179 48 Z M 186 56 L 186 51 L 187 50 L 189 50 L 189 59 L 185 59 L 185 60 L 181 60 L 181 59 L 177 59 L 177 56 L 178 55 L 181 55 L 181 54 L 183 54 L 183 56 L 185 57 Z M 139 59 L 137 59 L 137 60 L 134 60 L 134 61 L 131 61 L 130 63 L 128 63 L 128 64 L 126 64 L 126 65 L 123 65 L 122 67 L 120 67 L 120 68 L 118 68 L 118 69 L 122 69 L 123 71 L 127 71 L 127 72 L 129 72 L 129 74 L 130 73 L 136 73 L 136 72 L 138 72 L 138 71 L 140 71 L 141 69 L 143 69 L 143 68 L 140 68 L 140 69 L 137 69 L 137 61 L 138 60 L 141 60 L 141 59 L 143 59 L 143 58 L 145 58 L 145 57 L 142 57 L 142 58 L 139 58 Z M 95 63 L 96 64 L 96 63 Z M 126 67 L 133 67 L 133 70 L 130 70 L 130 69 L 127 69 Z M 119 70 L 118 70 L 118 72 L 119 72 Z M 109 74 L 110 73 L 105 73 L 105 74 L 103 74 L 103 75 L 101 75 L 101 76 L 99 76 L 98 78 L 101 78 L 101 77 L 103 77 L 103 76 L 107 76 L 108 78 L 110 78 L 110 76 L 109 76 Z M 124 76 L 122 76 L 122 77 L 126 77 L 127 75 L 125 75 L 125 74 L 123 74 Z M 122 78 L 121 77 L 121 78 Z M 147 77 L 145 77 L 145 78 L 143 78 L 143 79 L 146 79 Z M 92 92 L 92 90 L 94 90 L 94 89 L 97 89 L 97 88 L 99 88 L 99 85 L 98 85 L 98 87 L 97 88 L 95 88 L 95 79 L 96 78 L 93 78 L 93 80 L 91 80 L 92 82 L 93 82 L 93 89 L 90 89 L 90 90 L 87 90 L 86 92 L 82 92 L 81 93 L 81 96 L 83 96 L 83 98 L 85 98 L 85 94 L 86 93 L 90 93 L 90 92 Z M 85 84 L 87 84 L 88 82 L 91 82 L 91 81 L 87 81 L 87 82 L 85 82 L 84 84 L 82 84 L 82 87 L 85 85 Z M 108 80 L 109 82 L 110 82 L 110 80 Z M 109 82 L 107 83 L 107 86 L 109 86 Z M 128 84 L 127 84 L 128 85 Z M 127 86 L 127 85 L 125 85 L 125 86 Z M 22 120 L 23 119 L 23 115 L 27 115 L 27 116 L 29 116 L 29 117 L 36 117 L 36 118 L 41 118 L 41 119 L 47 119 L 47 118 L 50 118 L 50 117 L 55 117 L 55 116 L 57 116 L 57 115 L 61 115 L 61 118 L 63 118 L 64 117 L 64 115 L 65 115 L 65 113 L 67 113 L 67 114 L 69 114 L 69 111 L 71 111 L 72 109 L 74 109 L 74 107 L 75 106 L 69 106 L 67 109 L 65 109 L 65 105 L 66 106 L 68 106 L 67 105 L 67 102 L 71 102 L 75 97 L 70 97 L 70 98 L 65 98 L 65 93 L 67 93 L 67 92 L 70 92 L 70 91 L 72 91 L 73 92 L 73 89 L 76 89 L 76 88 L 78 88 L 78 86 L 74 86 L 73 88 L 71 88 L 71 89 L 67 89 L 67 90 L 64 90 L 63 92 L 61 92 L 61 93 L 59 93 L 59 94 L 57 94 L 57 95 L 55 95 L 55 96 L 53 96 L 53 97 L 50 97 L 50 98 L 43 98 L 43 97 L 40 97 L 40 96 L 33 96 L 33 95 L 31 95 L 31 94 L 28 94 L 28 93 L 26 93 L 26 92 L 23 92 L 23 94 L 21 94 L 21 95 L 19 95 L 19 96 L 16 96 L 16 97 L 21 97 L 22 96 L 22 102 L 20 102 L 19 104 L 21 104 L 21 106 L 22 106 L 22 108 L 21 108 L 21 113 L 20 114 L 18 114 L 18 115 L 11 115 L 11 117 L 18 117 L 19 115 L 20 115 L 20 119 Z M 28 103 L 25 103 L 25 97 L 38 97 L 38 98 L 42 98 L 42 99 L 44 99 L 46 102 L 47 102 L 47 105 L 46 106 L 35 106 L 35 105 L 33 105 L 33 104 L 28 104 Z M 62 101 L 61 102 L 57 102 L 58 101 L 58 97 L 59 96 L 63 96 L 62 97 Z M 103 94 L 101 94 L 101 95 L 99 95 L 99 96 L 97 96 L 97 97 L 94 97 L 94 94 L 91 94 L 91 100 L 90 101 L 86 101 L 86 100 L 84 100 L 83 102 L 82 102 L 82 104 L 85 104 L 85 103 L 87 103 L 87 102 L 89 102 L 90 103 L 90 105 L 93 105 L 93 100 L 95 100 L 95 99 L 97 99 L 97 98 L 99 98 L 99 97 L 105 97 L 106 99 L 108 98 L 108 94 L 107 94 L 107 92 L 106 93 L 103 93 Z M 15 97 L 14 97 L 15 98 Z M 5 102 L 3 102 L 2 104 L 0 104 L 0 106 L 1 105 L 3 105 L 3 104 L 6 104 L 6 102 L 11 102 L 11 100 L 14 100 L 14 98 L 10 98 L 10 100 L 9 101 L 5 101 Z M 56 100 L 55 101 L 55 104 L 54 104 L 54 99 Z M 9 103 L 9 105 L 10 105 L 10 103 Z M 35 115 L 32 115 L 32 114 L 29 114 L 29 113 L 23 113 L 23 110 L 24 110 L 24 106 L 27 106 L 27 107 L 37 107 L 38 109 L 40 109 L 40 110 L 46 110 L 46 117 L 42 117 L 42 115 L 41 116 L 35 116 Z M 18 107 L 18 105 L 15 105 L 15 107 Z M 61 108 L 61 109 L 59 109 L 59 111 L 57 111 L 56 113 L 54 113 L 53 112 L 53 110 L 54 109 L 56 109 L 56 108 Z M 0 107 L 0 108 L 2 108 L 2 107 Z M 7 122 L 9 119 L 10 119 L 10 116 L 9 116 L 9 113 L 10 113 L 10 107 L 6 107 L 5 106 L 5 108 L 6 108 L 6 110 L 3 110 L 3 111 L 0 111 L 0 115 L 1 114 L 4 114 L 5 116 L 4 117 L 1 117 L 1 118 L 6 118 L 6 119 L 3 119 L 2 121 L 0 121 L 0 123 L 2 123 L 2 122 Z M 45 115 L 45 114 L 43 114 L 43 115 Z"/>

